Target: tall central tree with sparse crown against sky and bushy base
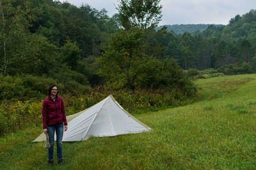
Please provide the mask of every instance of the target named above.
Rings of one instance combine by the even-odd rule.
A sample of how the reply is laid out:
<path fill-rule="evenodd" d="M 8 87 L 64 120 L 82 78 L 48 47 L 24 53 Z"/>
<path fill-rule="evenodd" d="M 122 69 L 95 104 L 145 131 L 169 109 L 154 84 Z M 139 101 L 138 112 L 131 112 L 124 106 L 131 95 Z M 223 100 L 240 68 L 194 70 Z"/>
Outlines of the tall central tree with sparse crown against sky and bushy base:
<path fill-rule="evenodd" d="M 157 41 L 166 31 L 153 29 L 161 18 L 158 3 L 120 1 L 118 10 L 125 29 L 113 34 L 108 45 L 104 46 L 98 74 L 107 78 L 109 85 L 116 90 L 164 87 L 192 94 L 195 87 L 175 60 L 163 60 L 163 46 Z"/>

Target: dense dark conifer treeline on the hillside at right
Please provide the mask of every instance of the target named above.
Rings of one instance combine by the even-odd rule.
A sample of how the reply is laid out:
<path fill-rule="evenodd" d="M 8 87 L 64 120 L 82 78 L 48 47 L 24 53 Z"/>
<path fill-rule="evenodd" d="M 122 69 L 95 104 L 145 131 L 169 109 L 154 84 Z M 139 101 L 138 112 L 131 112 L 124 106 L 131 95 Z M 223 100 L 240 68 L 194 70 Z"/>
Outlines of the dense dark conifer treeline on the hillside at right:
<path fill-rule="evenodd" d="M 232 73 L 255 73 L 256 11 L 237 15 L 228 25 L 209 25 L 195 35 L 167 32 L 159 39 L 165 47 L 164 56 L 174 58 L 183 69 L 214 68 L 224 73 L 230 67 L 246 67 Z M 230 65 L 231 64 L 231 65 Z M 237 69 L 239 70 L 239 69 Z"/>

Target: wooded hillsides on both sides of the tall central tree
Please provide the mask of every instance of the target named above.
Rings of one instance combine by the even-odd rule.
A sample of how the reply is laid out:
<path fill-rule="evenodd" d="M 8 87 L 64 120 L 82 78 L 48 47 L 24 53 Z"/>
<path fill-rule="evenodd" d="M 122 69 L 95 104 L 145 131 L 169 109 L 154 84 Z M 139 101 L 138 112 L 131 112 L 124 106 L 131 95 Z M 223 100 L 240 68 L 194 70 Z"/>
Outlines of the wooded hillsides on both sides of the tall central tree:
<path fill-rule="evenodd" d="M 62 83 L 99 85 L 97 60 L 118 30 L 117 14 L 106 15 L 91 6 L 79 8 L 60 1 L 1 2 L 0 71 L 3 76 L 50 76 Z M 230 19 L 228 25 L 209 25 L 195 35 L 162 28 L 148 34 L 156 58 L 175 59 L 188 69 L 244 67 L 255 72 L 256 11 Z M 151 36 L 151 37 L 149 37 Z M 157 55 L 157 56 L 156 56 Z"/>

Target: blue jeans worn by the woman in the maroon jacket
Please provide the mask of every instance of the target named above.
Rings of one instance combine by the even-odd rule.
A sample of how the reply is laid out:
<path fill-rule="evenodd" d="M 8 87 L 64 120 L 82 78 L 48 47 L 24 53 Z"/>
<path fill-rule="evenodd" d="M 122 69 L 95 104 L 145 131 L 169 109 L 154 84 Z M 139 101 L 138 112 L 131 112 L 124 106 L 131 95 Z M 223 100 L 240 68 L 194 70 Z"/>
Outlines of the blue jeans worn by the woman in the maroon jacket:
<path fill-rule="evenodd" d="M 48 148 L 48 159 L 53 160 L 53 146 L 54 146 L 54 132 L 56 131 L 56 144 L 57 144 L 57 157 L 62 159 L 62 137 L 63 137 L 63 124 L 47 126 L 49 135 L 49 142 L 51 148 Z"/>

